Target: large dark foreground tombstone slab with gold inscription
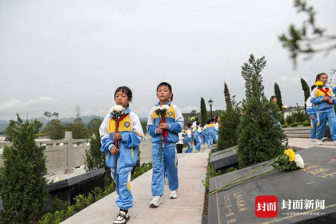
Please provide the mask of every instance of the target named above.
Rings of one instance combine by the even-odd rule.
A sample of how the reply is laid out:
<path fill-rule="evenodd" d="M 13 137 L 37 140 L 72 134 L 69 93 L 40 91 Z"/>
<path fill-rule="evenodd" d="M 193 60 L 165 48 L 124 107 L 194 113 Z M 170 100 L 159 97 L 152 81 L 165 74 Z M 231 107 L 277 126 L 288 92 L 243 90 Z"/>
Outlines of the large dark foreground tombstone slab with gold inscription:
<path fill-rule="evenodd" d="M 303 169 L 272 171 L 211 194 L 208 223 L 336 223 L 336 148 L 314 146 L 299 154 L 305 162 Z M 210 191 L 269 162 L 211 178 Z M 243 178 L 269 169 L 272 167 Z M 256 197 L 259 195 L 276 198 L 258 204 Z M 274 203 L 277 206 L 275 217 L 256 216 L 264 211 L 274 212 Z"/>

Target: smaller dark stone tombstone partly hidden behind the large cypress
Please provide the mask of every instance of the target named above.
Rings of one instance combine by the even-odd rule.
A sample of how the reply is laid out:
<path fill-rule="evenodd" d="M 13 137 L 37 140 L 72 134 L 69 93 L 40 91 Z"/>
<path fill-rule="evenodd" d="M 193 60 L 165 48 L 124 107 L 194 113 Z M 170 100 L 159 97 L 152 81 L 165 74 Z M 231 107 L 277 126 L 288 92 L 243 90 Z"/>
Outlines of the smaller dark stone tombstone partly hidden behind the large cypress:
<path fill-rule="evenodd" d="M 233 146 L 210 154 L 210 163 L 216 170 L 226 170 L 230 167 L 238 167 L 238 146 Z"/>

